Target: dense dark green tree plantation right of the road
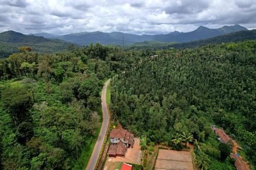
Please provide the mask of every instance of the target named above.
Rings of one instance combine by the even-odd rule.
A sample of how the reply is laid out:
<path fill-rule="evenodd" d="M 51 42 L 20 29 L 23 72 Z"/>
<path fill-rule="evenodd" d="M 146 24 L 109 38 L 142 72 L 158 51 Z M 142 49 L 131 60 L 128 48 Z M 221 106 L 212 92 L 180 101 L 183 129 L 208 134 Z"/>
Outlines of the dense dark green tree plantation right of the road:
<path fill-rule="evenodd" d="M 256 41 L 244 41 L 141 57 L 114 77 L 111 110 L 125 128 L 146 134 L 148 142 L 180 149 L 182 141 L 197 139 L 211 154 L 210 167 L 227 169 L 216 161 L 217 140 L 210 129 L 219 125 L 255 165 L 255 49 Z"/>

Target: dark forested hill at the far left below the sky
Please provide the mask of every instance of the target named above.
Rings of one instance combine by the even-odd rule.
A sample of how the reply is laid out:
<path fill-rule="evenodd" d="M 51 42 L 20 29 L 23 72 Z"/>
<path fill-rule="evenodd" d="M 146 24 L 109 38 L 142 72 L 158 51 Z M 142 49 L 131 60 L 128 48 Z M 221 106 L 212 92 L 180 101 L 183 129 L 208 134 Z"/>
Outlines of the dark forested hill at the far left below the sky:
<path fill-rule="evenodd" d="M 24 35 L 14 31 L 0 33 L 0 58 L 7 58 L 13 53 L 19 51 L 20 46 L 30 46 L 33 51 L 38 53 L 59 52 L 72 45 L 59 39 L 47 39 L 34 35 Z M 75 45 L 77 47 L 78 45 Z"/>

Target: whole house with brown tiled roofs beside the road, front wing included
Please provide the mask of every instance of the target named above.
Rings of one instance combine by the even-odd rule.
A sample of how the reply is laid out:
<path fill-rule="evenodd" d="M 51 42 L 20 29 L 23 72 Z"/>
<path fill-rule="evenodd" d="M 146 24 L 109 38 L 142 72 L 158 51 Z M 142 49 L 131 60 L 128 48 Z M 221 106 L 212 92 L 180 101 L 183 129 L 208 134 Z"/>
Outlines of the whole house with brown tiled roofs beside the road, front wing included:
<path fill-rule="evenodd" d="M 124 157 L 127 148 L 133 148 L 134 135 L 124 129 L 113 129 L 110 132 L 110 142 L 108 155 L 110 157 Z"/>

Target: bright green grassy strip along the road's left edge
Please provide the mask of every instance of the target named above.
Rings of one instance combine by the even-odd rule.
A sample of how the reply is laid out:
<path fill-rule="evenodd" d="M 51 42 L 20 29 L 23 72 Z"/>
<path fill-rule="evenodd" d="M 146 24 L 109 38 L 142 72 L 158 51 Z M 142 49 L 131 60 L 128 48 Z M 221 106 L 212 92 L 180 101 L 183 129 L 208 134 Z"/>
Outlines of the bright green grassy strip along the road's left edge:
<path fill-rule="evenodd" d="M 72 168 L 73 170 L 81 170 L 81 169 L 86 168 L 87 163 L 92 155 L 94 145 L 98 139 L 101 124 L 102 123 L 100 123 L 99 128 L 97 129 L 95 135 L 93 137 L 91 137 L 90 140 L 86 140 L 86 143 L 84 144 L 84 147 L 82 148 L 82 153 L 81 153 L 80 157 L 78 158 L 75 166 Z"/>

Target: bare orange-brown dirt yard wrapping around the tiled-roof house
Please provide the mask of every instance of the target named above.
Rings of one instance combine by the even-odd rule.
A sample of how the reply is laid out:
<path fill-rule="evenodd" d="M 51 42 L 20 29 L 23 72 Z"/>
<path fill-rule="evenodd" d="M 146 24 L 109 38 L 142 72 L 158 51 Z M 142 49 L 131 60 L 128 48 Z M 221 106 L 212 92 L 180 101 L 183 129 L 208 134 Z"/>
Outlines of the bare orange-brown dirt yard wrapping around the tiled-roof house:
<path fill-rule="evenodd" d="M 140 150 L 140 138 L 134 138 L 133 148 L 128 148 L 125 157 L 109 157 L 106 160 L 104 170 L 110 170 L 114 162 L 126 162 L 133 164 L 141 164 L 142 152 Z M 111 169 L 112 170 L 112 169 Z"/>

